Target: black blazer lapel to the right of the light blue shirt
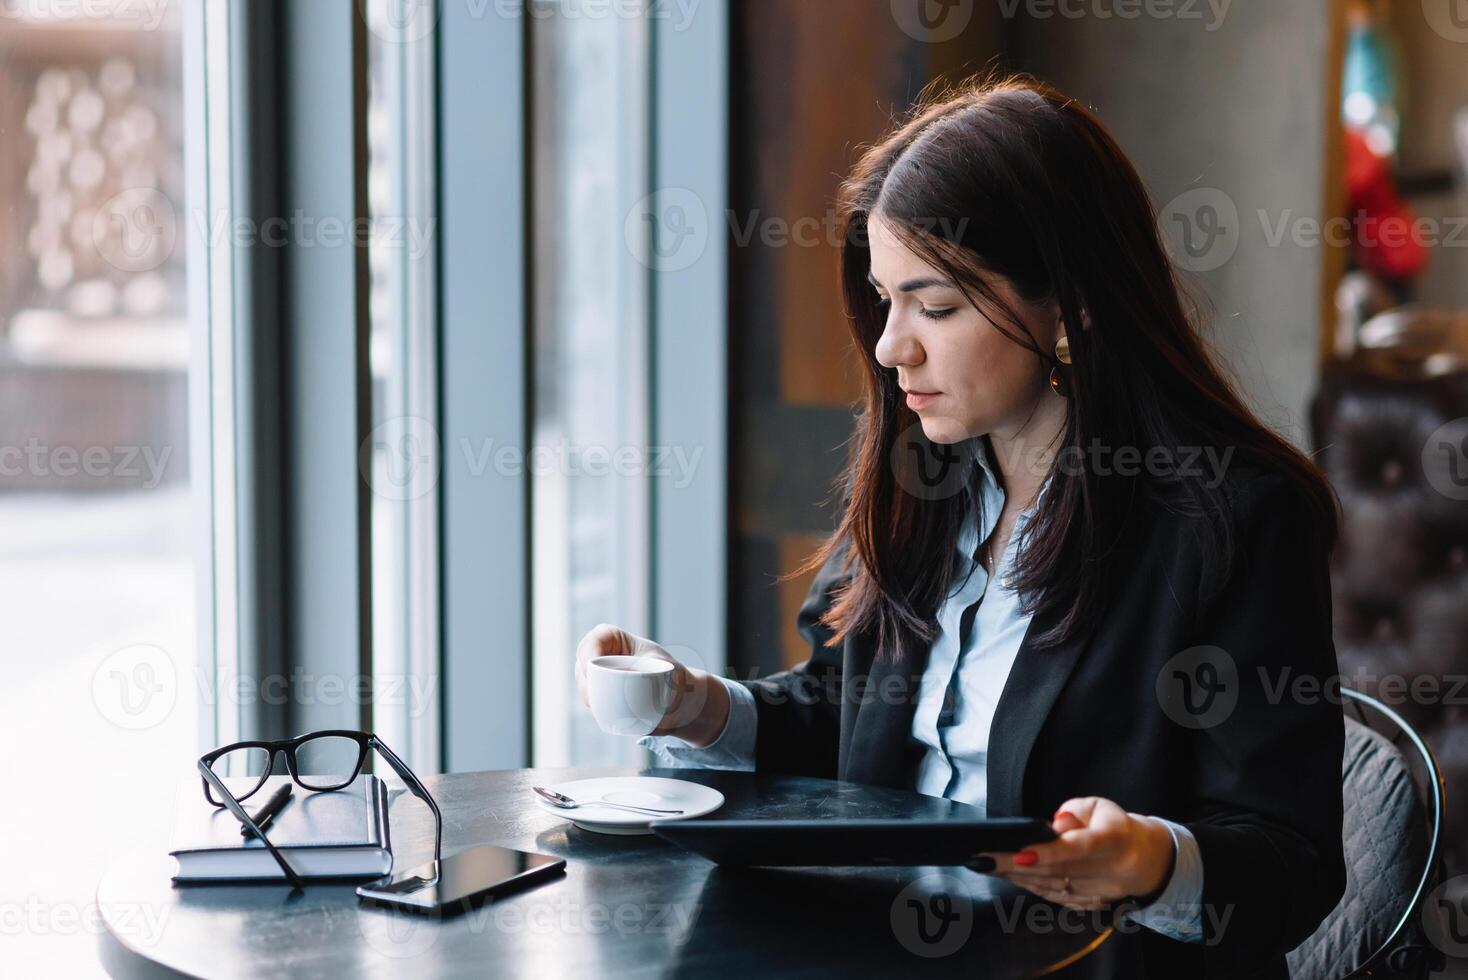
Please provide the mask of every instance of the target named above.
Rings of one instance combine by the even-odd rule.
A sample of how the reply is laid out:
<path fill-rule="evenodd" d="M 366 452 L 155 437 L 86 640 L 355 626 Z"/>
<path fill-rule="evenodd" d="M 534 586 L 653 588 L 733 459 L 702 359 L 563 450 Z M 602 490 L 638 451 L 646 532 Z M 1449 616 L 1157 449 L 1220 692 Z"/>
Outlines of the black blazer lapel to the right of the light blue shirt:
<path fill-rule="evenodd" d="M 1050 648 L 1035 648 L 1033 638 L 1060 621 L 1061 610 L 1035 615 L 1010 668 L 1000 703 L 994 709 L 988 754 L 988 813 L 991 817 L 1023 817 L 1025 766 L 1060 690 L 1091 644 L 1095 626 Z"/>

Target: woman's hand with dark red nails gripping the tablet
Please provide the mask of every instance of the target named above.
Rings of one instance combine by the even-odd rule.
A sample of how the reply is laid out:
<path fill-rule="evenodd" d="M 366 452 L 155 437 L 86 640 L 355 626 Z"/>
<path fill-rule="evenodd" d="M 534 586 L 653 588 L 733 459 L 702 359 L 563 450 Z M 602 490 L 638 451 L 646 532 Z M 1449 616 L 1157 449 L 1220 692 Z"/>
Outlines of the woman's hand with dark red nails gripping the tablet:
<path fill-rule="evenodd" d="M 1051 826 L 1055 841 L 1019 854 L 978 854 L 969 867 L 1079 910 L 1149 895 L 1171 877 L 1173 835 L 1154 817 L 1101 797 L 1079 797 L 1060 805 Z"/>

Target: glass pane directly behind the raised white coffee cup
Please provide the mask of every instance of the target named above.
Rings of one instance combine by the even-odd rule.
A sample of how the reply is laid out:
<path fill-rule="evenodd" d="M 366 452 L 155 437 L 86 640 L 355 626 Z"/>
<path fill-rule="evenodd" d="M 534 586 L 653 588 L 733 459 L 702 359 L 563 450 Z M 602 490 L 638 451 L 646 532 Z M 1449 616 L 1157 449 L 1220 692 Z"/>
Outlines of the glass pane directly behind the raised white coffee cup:
<path fill-rule="evenodd" d="M 536 766 L 643 754 L 584 710 L 574 657 L 597 622 L 647 632 L 647 270 L 628 216 L 649 185 L 650 32 L 646 13 L 578 15 L 545 0 L 531 18 Z"/>

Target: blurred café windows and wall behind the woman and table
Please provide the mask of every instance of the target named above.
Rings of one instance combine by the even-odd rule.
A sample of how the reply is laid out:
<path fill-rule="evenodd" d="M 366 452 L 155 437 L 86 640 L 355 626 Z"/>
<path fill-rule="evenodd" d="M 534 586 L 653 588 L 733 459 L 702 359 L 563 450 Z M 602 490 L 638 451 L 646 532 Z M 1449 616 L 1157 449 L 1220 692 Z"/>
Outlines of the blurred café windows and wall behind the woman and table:
<path fill-rule="evenodd" d="M 597 622 L 809 656 L 775 579 L 860 395 L 837 185 L 985 67 L 1130 154 L 1342 494 L 1348 679 L 1468 779 L 1456 0 L 9 0 L 0 719 L 46 792 L 0 813 L 0 959 L 98 973 L 103 870 L 216 744 L 640 764 L 575 697 Z"/>

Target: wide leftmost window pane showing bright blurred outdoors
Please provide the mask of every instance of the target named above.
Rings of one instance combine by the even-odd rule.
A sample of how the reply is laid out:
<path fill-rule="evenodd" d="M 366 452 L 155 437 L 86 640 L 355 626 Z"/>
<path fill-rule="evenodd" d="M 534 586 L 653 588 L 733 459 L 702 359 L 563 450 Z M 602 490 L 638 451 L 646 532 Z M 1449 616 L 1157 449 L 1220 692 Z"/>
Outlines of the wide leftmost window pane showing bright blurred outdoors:
<path fill-rule="evenodd" d="M 6 757 L 46 805 L 0 811 L 0 907 L 82 923 L 159 801 L 200 794 L 184 16 L 0 4 L 0 717 L 47 741 Z M 6 971 L 95 974 L 76 933 L 7 936 Z"/>

